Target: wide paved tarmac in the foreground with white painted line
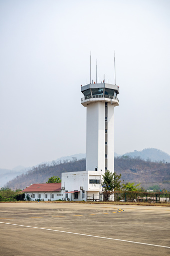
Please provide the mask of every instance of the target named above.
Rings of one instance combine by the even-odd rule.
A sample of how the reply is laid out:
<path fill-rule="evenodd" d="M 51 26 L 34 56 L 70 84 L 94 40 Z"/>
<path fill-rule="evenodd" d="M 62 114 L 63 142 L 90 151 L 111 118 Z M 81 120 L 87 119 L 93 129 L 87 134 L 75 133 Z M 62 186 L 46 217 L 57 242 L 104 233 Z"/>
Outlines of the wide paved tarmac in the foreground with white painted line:
<path fill-rule="evenodd" d="M 0 255 L 170 255 L 169 217 L 169 207 L 0 203 Z"/>

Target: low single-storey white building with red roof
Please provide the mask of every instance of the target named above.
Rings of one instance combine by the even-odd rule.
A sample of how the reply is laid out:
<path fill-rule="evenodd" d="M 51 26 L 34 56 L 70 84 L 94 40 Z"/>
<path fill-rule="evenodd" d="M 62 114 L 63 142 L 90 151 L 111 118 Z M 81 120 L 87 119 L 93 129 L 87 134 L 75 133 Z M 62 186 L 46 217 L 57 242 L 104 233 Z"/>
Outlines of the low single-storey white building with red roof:
<path fill-rule="evenodd" d="M 28 188 L 24 189 L 22 192 L 25 193 L 25 200 L 28 197 L 32 201 L 54 201 L 54 200 L 64 200 L 64 191 L 61 189 L 61 183 L 36 183 Z"/>

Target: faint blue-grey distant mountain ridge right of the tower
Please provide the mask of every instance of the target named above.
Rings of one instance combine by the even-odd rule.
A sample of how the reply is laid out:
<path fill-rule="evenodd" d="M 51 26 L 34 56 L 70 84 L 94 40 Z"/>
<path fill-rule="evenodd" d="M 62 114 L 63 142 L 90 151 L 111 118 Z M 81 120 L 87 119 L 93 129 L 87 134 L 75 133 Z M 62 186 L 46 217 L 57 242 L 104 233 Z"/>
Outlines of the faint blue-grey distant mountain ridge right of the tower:
<path fill-rule="evenodd" d="M 156 149 L 156 148 L 144 148 L 141 151 L 134 150 L 133 152 L 128 152 L 123 154 L 124 156 L 131 156 L 131 157 L 140 157 L 143 160 L 148 161 L 163 161 L 163 162 L 170 162 L 170 155 L 167 153 Z"/>

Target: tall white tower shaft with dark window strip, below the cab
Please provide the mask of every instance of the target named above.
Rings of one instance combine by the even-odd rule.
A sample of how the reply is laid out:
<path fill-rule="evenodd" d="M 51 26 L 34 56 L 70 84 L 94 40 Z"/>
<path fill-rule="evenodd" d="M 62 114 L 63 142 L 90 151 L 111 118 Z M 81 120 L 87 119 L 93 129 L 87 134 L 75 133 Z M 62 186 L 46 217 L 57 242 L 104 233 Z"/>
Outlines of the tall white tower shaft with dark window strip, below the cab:
<path fill-rule="evenodd" d="M 111 103 L 87 105 L 86 170 L 114 172 L 114 107 Z"/>

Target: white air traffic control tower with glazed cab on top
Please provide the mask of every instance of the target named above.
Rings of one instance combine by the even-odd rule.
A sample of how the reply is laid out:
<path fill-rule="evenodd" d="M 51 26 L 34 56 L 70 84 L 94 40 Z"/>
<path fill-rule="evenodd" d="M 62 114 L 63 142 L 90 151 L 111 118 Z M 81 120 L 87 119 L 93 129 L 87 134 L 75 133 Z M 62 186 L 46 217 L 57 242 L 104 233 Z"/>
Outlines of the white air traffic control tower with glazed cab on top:
<path fill-rule="evenodd" d="M 90 83 L 81 87 L 87 107 L 86 170 L 114 172 L 114 107 L 119 106 L 119 87 Z"/>

